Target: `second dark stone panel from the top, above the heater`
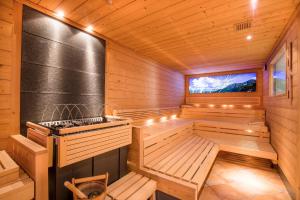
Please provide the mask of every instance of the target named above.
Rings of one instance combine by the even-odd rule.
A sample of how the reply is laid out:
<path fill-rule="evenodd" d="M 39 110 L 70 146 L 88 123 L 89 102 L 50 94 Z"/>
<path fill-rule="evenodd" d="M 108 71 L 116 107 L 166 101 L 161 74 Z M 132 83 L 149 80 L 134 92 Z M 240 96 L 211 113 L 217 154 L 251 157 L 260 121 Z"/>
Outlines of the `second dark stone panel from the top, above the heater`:
<path fill-rule="evenodd" d="M 44 39 L 23 32 L 22 61 L 45 65 L 49 67 L 64 68 L 72 71 L 88 73 L 103 73 L 104 55 L 89 49 L 83 50 L 72 46 Z"/>

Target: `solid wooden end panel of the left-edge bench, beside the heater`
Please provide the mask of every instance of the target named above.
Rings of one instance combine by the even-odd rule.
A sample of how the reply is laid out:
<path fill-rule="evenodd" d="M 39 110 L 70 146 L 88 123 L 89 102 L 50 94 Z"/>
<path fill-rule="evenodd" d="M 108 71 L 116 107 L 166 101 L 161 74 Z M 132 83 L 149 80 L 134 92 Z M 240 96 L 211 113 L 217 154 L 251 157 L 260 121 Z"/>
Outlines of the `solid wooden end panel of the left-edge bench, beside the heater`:
<path fill-rule="evenodd" d="M 19 177 L 0 187 L 0 199 L 47 200 L 48 155 L 47 150 L 23 137 L 12 135 L 8 152 L 20 166 Z"/>

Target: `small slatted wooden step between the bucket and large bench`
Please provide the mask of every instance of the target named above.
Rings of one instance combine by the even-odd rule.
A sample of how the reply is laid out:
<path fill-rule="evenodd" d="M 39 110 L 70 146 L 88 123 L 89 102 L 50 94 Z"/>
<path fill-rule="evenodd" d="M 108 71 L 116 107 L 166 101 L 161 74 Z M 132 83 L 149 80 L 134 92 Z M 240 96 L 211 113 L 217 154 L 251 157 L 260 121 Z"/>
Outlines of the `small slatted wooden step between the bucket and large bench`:
<path fill-rule="evenodd" d="M 155 200 L 157 183 L 150 178 L 130 172 L 108 186 L 105 200 Z"/>

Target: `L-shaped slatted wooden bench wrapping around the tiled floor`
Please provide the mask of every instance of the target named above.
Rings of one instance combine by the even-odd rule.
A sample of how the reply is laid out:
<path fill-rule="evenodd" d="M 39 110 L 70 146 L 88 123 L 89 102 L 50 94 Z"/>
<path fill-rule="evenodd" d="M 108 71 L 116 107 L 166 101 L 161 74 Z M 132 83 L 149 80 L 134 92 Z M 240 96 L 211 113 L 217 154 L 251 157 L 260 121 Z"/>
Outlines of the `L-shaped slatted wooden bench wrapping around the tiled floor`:
<path fill-rule="evenodd" d="M 264 124 L 177 119 L 135 127 L 129 167 L 179 199 L 198 199 L 219 151 L 277 161 Z"/>

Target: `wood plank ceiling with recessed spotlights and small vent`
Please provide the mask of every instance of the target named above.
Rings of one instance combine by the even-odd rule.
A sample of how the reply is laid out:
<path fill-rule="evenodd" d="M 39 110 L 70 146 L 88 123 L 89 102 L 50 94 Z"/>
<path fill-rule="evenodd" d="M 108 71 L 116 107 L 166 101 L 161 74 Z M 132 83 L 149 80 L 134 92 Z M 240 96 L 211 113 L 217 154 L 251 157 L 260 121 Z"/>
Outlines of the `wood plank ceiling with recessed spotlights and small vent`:
<path fill-rule="evenodd" d="M 252 0 L 30 1 L 184 73 L 262 65 L 299 3 L 257 0 L 253 11 Z M 247 20 L 250 29 L 235 30 Z"/>

